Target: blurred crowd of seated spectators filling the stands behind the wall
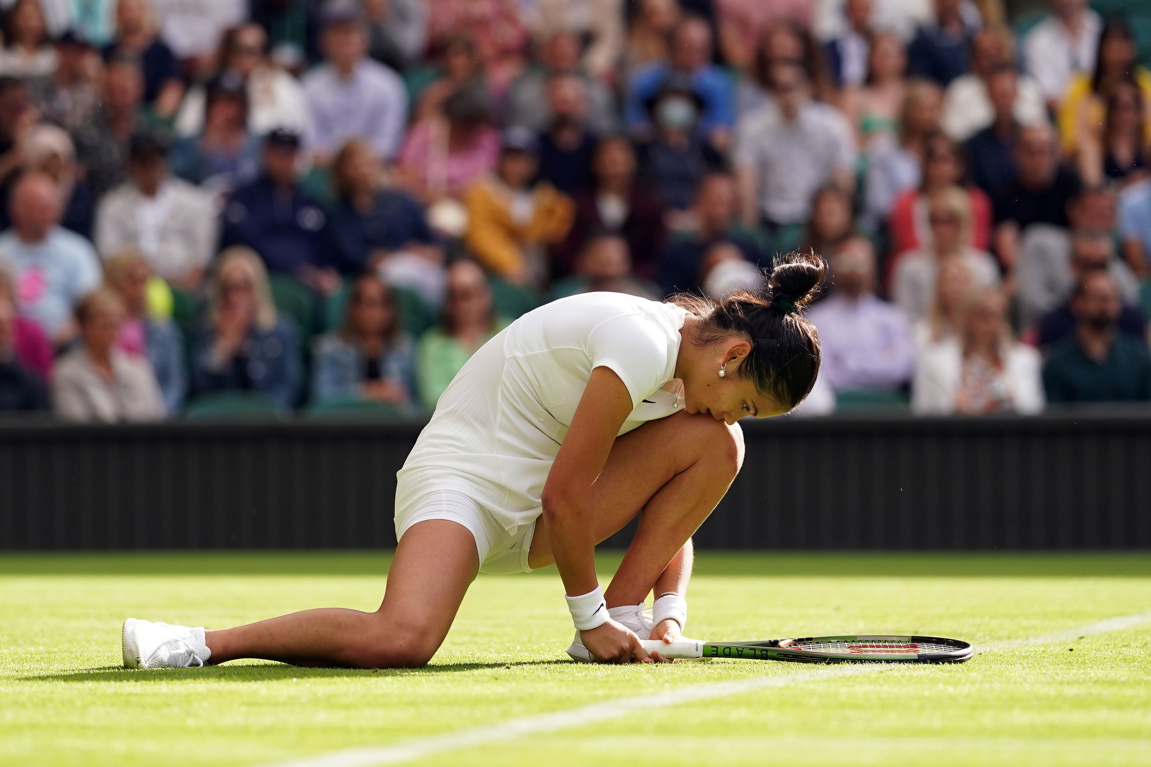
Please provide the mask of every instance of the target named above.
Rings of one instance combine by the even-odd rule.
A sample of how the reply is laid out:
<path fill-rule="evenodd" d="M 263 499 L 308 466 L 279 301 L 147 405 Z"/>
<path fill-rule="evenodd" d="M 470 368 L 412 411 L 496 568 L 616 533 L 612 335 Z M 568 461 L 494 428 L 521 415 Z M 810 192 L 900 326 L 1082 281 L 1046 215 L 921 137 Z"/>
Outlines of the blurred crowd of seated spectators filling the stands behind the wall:
<path fill-rule="evenodd" d="M 543 301 L 794 248 L 807 413 L 1151 399 L 1138 6 L 0 0 L 0 409 L 428 411 Z"/>

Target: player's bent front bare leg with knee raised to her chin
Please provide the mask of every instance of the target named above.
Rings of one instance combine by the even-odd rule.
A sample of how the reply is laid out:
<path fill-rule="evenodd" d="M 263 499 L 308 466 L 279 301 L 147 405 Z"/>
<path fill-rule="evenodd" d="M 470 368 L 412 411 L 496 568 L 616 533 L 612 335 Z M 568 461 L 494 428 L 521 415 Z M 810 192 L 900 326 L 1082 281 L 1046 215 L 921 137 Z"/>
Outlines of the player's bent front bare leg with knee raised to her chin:
<path fill-rule="evenodd" d="M 595 539 L 604 540 L 641 511 L 643 515 L 604 595 L 609 607 L 639 604 L 657 582 L 661 591 L 683 593 L 692 572 L 692 534 L 727 492 L 742 462 L 739 427 L 708 415 L 649 421 L 616 439 L 592 485 Z M 552 563 L 542 516 L 528 563 Z"/>

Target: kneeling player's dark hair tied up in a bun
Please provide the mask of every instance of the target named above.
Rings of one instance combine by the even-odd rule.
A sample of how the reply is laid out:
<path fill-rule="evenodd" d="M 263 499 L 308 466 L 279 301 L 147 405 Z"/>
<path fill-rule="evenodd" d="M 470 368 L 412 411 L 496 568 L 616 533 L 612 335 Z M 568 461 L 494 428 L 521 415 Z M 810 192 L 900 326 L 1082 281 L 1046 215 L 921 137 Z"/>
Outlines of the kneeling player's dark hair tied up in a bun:
<path fill-rule="evenodd" d="M 777 255 L 771 271 L 764 270 L 761 291 L 740 291 L 718 302 L 698 296 L 672 300 L 703 320 L 696 337 L 701 346 L 747 337 L 752 351 L 739 375 L 791 409 L 808 396 L 820 373 L 820 335 L 800 312 L 820 296 L 826 271 L 821 255 L 793 252 Z"/>

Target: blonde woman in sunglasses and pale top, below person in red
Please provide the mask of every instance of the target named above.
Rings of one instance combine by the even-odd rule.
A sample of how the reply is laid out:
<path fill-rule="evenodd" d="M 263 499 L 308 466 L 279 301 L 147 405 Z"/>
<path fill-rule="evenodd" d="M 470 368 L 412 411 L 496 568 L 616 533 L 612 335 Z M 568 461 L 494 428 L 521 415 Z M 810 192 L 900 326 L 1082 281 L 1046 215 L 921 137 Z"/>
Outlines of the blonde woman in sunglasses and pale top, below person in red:
<path fill-rule="evenodd" d="M 912 320 L 922 317 L 931 306 L 939 264 L 960 260 L 967 264 L 977 287 L 999 284 L 999 268 L 986 251 L 971 241 L 971 202 L 958 186 L 940 190 L 928 200 L 930 245 L 899 259 L 892 277 L 895 304 Z"/>

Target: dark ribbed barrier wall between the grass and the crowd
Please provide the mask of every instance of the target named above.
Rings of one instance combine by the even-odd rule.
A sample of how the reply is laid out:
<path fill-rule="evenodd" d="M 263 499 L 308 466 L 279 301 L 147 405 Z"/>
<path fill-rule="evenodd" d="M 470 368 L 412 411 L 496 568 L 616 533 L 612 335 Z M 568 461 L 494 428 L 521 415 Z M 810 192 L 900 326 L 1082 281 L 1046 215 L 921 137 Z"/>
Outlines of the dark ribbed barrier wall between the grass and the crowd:
<path fill-rule="evenodd" d="M 420 425 L 0 425 L 0 549 L 390 547 Z M 1151 549 L 1145 414 L 791 417 L 745 436 L 701 547 Z"/>

